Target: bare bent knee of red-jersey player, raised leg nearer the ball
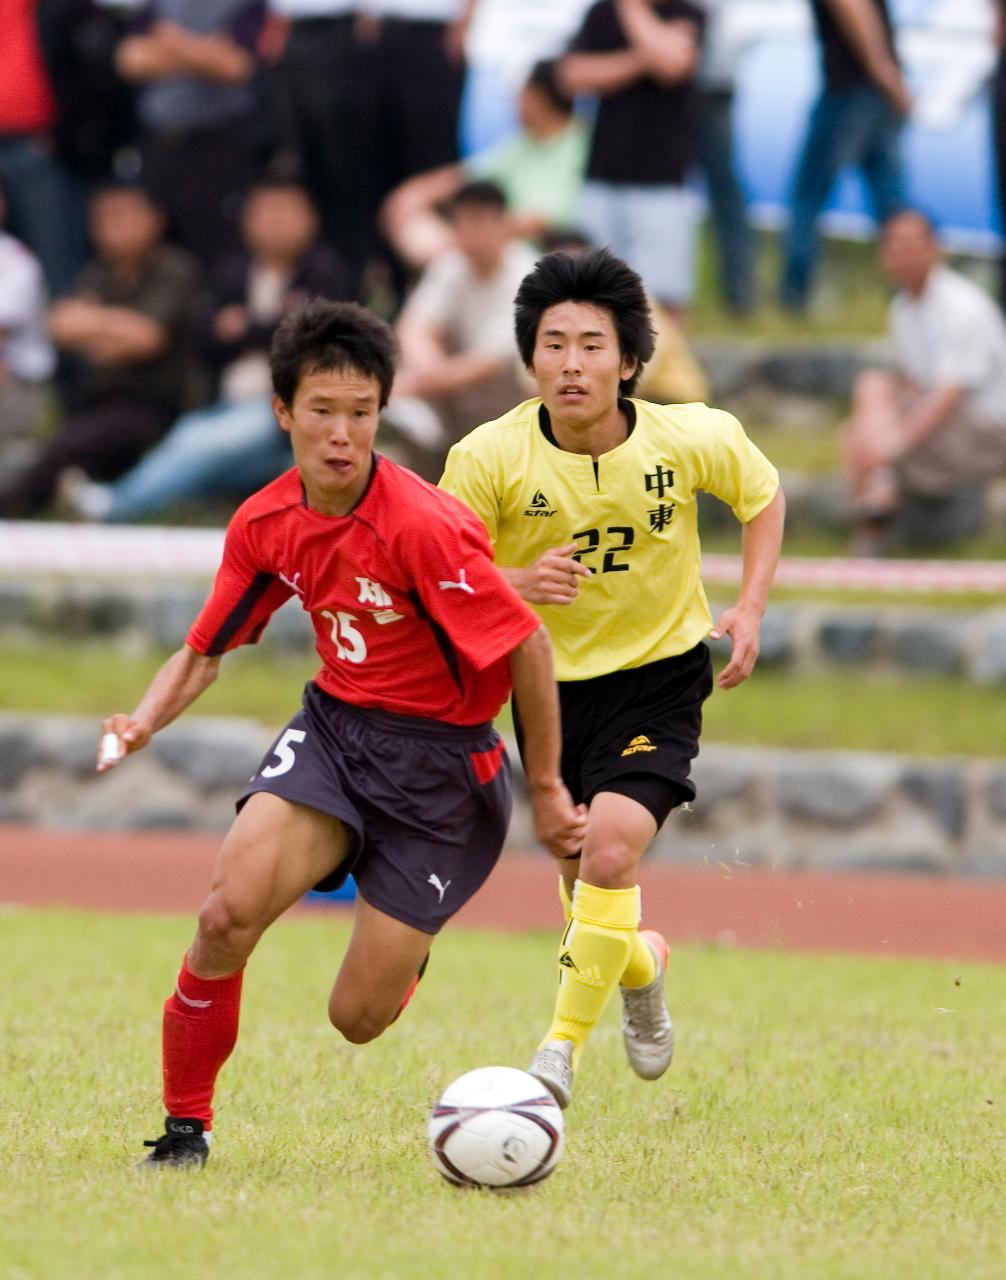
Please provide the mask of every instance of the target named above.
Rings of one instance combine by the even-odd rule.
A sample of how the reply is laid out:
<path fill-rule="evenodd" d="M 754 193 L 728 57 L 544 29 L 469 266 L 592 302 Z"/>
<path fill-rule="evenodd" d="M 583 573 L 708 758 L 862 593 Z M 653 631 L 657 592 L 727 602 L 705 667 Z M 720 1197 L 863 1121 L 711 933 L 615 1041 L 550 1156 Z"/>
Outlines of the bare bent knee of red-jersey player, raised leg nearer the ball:
<path fill-rule="evenodd" d="M 357 897 L 353 934 L 329 996 L 333 1027 L 355 1044 L 375 1039 L 411 997 L 433 936 Z"/>

